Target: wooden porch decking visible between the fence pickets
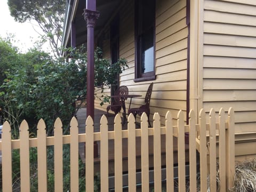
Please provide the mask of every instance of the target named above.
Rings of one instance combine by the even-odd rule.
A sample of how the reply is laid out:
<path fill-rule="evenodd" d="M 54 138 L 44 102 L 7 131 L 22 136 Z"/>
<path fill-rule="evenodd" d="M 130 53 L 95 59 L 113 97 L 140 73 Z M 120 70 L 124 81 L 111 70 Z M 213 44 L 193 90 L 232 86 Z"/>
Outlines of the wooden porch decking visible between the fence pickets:
<path fill-rule="evenodd" d="M 94 109 L 94 131 L 100 131 L 100 118 L 102 115 L 106 115 L 106 111 L 102 111 L 99 109 Z M 106 115 L 107 116 L 107 115 Z M 85 133 L 85 121 L 86 121 L 86 108 L 82 107 L 77 111 L 77 121 L 78 121 L 78 131 L 79 133 Z M 108 117 L 108 131 L 114 131 L 114 118 L 113 114 L 110 114 Z M 140 125 L 136 124 L 136 128 L 139 129 Z M 123 125 L 123 130 L 127 129 L 127 123 Z M 140 151 L 140 138 L 136 138 L 136 155 L 137 155 L 137 170 L 141 169 L 141 151 Z M 149 136 L 149 167 L 154 166 L 154 159 L 153 159 L 153 136 Z M 123 171 L 127 171 L 127 139 L 123 139 Z M 162 166 L 165 166 L 165 136 L 161 135 L 161 152 L 162 152 Z M 100 171 L 100 145 L 98 143 L 98 157 L 94 158 L 94 172 Z M 177 145 L 177 138 L 173 138 L 173 155 L 174 155 L 174 164 L 178 163 L 178 145 Z M 188 145 L 186 145 L 186 149 L 188 149 Z M 186 150 L 188 153 L 188 150 Z M 82 162 L 85 163 L 85 147 L 84 143 L 79 143 L 79 156 L 82 159 Z M 186 155 L 186 162 L 188 162 L 188 155 Z M 110 173 L 114 173 L 114 140 L 109 141 L 109 170 Z"/>

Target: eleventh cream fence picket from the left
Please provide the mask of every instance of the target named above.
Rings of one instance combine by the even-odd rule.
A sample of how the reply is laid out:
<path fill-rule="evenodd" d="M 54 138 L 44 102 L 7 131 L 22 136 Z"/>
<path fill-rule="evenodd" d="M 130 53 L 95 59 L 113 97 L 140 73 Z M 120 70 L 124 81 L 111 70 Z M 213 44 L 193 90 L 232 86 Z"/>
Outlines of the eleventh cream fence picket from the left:
<path fill-rule="evenodd" d="M 161 125 L 160 116 L 154 114 L 154 191 L 162 191 L 161 173 Z"/>

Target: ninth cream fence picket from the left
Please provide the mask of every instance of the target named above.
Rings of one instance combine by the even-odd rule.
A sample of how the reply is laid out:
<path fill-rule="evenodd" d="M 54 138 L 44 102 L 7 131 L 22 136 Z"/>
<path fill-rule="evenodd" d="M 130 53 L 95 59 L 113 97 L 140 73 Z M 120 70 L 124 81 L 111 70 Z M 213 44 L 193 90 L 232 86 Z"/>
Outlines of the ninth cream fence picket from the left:
<path fill-rule="evenodd" d="M 136 139 L 135 118 L 131 113 L 128 117 L 128 182 L 129 192 L 136 191 Z"/>

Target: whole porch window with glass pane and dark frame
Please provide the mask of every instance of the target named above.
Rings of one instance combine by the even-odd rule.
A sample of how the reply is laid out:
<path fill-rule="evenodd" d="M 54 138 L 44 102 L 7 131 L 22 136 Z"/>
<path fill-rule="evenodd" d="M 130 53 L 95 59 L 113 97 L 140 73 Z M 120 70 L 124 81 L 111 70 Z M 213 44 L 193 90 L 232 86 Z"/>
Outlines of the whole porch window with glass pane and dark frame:
<path fill-rule="evenodd" d="M 135 1 L 135 82 L 155 77 L 155 0 Z"/>

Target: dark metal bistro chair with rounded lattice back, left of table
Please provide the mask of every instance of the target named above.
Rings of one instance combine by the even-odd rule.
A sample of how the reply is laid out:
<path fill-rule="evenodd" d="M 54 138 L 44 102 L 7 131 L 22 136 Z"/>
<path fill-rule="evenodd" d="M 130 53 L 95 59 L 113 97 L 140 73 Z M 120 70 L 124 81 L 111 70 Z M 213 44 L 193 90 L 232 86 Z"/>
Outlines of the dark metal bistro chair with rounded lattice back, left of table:
<path fill-rule="evenodd" d="M 119 86 L 114 93 L 114 95 L 127 95 L 127 94 L 129 94 L 129 90 L 127 86 Z M 108 116 L 109 110 L 114 111 L 115 115 L 118 114 L 118 112 L 121 111 L 122 106 L 123 106 L 122 100 L 119 97 L 113 98 L 113 101 L 111 101 L 111 105 L 107 107 L 107 116 Z"/>

